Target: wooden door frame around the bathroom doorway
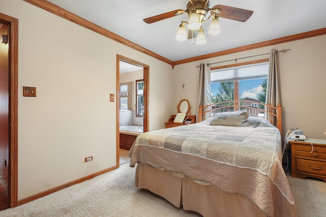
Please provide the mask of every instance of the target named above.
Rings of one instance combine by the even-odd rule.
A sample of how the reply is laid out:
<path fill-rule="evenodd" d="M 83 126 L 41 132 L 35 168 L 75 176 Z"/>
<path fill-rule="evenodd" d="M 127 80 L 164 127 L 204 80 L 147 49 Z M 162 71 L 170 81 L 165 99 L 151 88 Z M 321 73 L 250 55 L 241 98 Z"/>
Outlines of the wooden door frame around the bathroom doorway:
<path fill-rule="evenodd" d="M 124 61 L 125 63 L 139 66 L 143 68 L 144 71 L 144 132 L 149 131 L 149 66 L 142 64 L 138 61 L 130 59 L 128 57 L 117 54 L 117 168 L 119 168 L 119 155 L 120 155 L 120 131 L 119 131 L 119 105 L 120 105 L 120 61 Z"/>

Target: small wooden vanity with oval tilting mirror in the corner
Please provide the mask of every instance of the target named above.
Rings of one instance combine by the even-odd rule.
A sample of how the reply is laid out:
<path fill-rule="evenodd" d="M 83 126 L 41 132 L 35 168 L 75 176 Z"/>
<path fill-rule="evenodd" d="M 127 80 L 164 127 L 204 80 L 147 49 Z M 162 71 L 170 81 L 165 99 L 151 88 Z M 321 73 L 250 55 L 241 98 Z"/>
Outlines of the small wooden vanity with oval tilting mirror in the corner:
<path fill-rule="evenodd" d="M 181 125 L 189 125 L 192 123 L 196 123 L 196 115 L 191 115 L 191 112 L 190 112 L 191 107 L 190 107 L 188 100 L 185 100 L 185 99 L 181 100 L 177 109 L 178 109 L 178 113 L 186 114 L 183 122 L 182 123 L 174 122 L 176 114 L 173 114 L 170 117 L 170 119 L 168 120 L 168 122 L 165 122 L 166 128 L 174 128 L 174 127 L 178 127 Z"/>

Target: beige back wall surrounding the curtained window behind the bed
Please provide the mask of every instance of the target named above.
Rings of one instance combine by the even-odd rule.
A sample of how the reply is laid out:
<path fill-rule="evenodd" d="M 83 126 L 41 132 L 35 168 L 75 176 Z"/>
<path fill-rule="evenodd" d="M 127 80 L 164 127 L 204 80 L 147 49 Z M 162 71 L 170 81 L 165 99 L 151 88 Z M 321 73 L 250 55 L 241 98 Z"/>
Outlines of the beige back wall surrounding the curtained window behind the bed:
<path fill-rule="evenodd" d="M 188 99 L 192 105 L 192 114 L 195 114 L 199 73 L 199 68 L 196 66 L 200 63 L 216 63 L 268 53 L 273 48 L 277 50 L 291 49 L 286 53 L 278 54 L 281 74 L 283 134 L 290 128 L 297 127 L 302 129 L 304 134 L 310 138 L 326 139 L 324 135 L 326 132 L 326 116 L 323 115 L 326 108 L 324 97 L 326 92 L 326 35 L 178 65 L 173 72 L 175 89 L 173 105 L 177 105 L 183 98 Z M 263 58 L 269 58 L 269 55 L 240 59 L 237 60 L 237 63 Z M 234 63 L 234 61 L 229 61 L 212 65 L 212 67 Z M 183 81 L 186 84 L 184 91 L 181 85 Z"/>

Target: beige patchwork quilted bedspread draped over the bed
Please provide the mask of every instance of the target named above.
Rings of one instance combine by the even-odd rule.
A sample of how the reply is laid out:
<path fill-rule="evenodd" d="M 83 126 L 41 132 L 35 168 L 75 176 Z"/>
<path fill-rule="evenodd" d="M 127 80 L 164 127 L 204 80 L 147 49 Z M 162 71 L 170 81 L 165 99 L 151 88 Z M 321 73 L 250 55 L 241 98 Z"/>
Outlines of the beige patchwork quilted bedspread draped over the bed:
<path fill-rule="evenodd" d="M 247 196 L 268 216 L 295 216 L 275 127 L 194 125 L 138 136 L 130 166 L 143 163 L 182 173 L 232 194 Z"/>

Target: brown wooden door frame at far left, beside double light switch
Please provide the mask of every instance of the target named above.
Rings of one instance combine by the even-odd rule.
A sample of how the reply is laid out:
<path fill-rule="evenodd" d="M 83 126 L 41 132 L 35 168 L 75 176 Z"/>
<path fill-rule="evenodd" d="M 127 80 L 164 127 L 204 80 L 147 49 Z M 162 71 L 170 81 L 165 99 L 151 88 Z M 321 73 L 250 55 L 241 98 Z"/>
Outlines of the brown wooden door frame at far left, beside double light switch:
<path fill-rule="evenodd" d="M 18 19 L 0 13 L 0 22 L 9 26 L 9 207 L 18 202 Z"/>

